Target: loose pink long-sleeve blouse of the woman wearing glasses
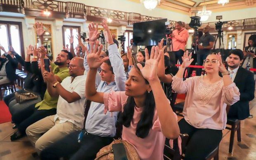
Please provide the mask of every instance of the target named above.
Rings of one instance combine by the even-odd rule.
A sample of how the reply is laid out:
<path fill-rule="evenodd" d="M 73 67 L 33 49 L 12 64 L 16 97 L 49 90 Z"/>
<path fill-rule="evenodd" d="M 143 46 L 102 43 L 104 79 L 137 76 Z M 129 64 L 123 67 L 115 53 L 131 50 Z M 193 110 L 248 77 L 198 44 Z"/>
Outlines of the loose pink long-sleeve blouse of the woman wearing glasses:
<path fill-rule="evenodd" d="M 214 84 L 204 82 L 204 76 L 187 78 L 173 77 L 172 88 L 175 92 L 186 94 L 183 115 L 195 128 L 225 129 L 227 105 L 239 101 L 239 89 L 232 83 L 226 87 L 223 78 Z"/>

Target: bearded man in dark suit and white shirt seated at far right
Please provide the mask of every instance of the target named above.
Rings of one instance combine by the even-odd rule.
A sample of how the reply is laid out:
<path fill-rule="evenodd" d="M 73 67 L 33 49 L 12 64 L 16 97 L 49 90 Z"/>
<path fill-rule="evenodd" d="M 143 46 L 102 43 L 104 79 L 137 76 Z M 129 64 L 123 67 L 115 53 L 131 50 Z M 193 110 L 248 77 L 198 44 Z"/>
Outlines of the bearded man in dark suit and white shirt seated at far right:
<path fill-rule="evenodd" d="M 228 56 L 228 71 L 240 92 L 240 100 L 230 106 L 228 118 L 239 120 L 249 117 L 249 101 L 254 99 L 255 88 L 254 74 L 239 66 L 243 59 L 244 54 L 240 49 L 231 50 Z"/>

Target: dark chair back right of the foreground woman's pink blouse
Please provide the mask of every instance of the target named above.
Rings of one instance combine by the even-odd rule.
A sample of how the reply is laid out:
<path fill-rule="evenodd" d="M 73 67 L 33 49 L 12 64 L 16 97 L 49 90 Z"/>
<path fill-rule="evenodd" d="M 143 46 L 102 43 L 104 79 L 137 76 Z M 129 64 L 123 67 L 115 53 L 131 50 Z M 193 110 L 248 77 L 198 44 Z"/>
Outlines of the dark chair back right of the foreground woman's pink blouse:
<path fill-rule="evenodd" d="M 181 151 L 184 153 L 187 146 L 188 134 L 180 134 Z M 173 148 L 169 146 L 169 139 L 166 139 L 166 144 L 164 145 L 164 160 L 181 160 L 182 155 L 178 148 L 178 138 L 173 140 Z"/>

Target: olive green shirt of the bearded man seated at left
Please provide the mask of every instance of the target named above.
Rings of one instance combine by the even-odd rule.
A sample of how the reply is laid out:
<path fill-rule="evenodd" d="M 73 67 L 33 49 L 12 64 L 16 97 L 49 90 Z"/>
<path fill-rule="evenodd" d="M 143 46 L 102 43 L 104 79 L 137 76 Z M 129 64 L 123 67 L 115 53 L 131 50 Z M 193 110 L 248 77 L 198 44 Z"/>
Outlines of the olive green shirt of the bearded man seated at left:
<path fill-rule="evenodd" d="M 59 68 L 59 66 L 57 66 L 53 62 L 51 63 L 51 66 L 52 66 L 53 74 L 57 75 L 61 80 L 64 80 L 64 78 L 70 76 L 69 69 L 67 67 Z M 45 95 L 43 97 L 43 101 L 40 101 L 39 103 L 37 103 L 35 107 L 39 106 L 38 110 L 41 110 L 41 109 L 49 110 L 52 108 L 57 108 L 58 98 L 59 98 L 58 96 L 57 97 L 50 96 L 49 92 L 46 89 Z"/>

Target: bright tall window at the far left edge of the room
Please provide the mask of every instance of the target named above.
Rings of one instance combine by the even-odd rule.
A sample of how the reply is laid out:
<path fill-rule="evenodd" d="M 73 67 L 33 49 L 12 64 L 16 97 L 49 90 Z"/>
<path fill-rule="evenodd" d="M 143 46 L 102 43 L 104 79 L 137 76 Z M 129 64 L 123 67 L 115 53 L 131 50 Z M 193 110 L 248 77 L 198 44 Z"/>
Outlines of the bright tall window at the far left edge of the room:
<path fill-rule="evenodd" d="M 5 48 L 6 52 L 9 50 L 8 46 L 11 45 L 20 56 L 25 58 L 21 22 L 0 21 L 0 35 L 0 45 Z"/>

